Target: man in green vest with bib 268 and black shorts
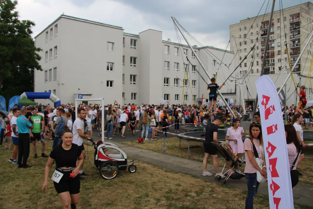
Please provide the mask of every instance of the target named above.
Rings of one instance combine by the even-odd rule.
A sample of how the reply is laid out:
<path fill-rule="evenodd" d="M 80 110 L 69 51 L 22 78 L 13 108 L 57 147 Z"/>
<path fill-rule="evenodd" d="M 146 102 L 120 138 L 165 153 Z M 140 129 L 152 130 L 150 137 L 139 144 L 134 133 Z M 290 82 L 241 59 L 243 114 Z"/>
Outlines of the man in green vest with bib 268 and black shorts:
<path fill-rule="evenodd" d="M 37 158 L 36 139 L 41 142 L 41 157 L 47 158 L 49 156 L 44 154 L 44 149 L 46 147 L 46 142 L 44 141 L 44 118 L 42 118 L 41 115 L 37 114 L 37 110 L 35 107 L 32 107 L 31 111 L 32 116 L 29 117 L 29 122 L 33 124 L 34 129 L 32 129 L 31 131 L 29 129 L 29 136 L 33 144 L 33 152 L 35 154 L 34 158 Z M 41 138 L 43 138 L 42 141 Z"/>

